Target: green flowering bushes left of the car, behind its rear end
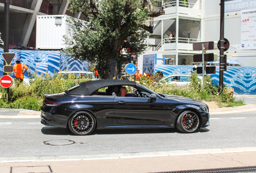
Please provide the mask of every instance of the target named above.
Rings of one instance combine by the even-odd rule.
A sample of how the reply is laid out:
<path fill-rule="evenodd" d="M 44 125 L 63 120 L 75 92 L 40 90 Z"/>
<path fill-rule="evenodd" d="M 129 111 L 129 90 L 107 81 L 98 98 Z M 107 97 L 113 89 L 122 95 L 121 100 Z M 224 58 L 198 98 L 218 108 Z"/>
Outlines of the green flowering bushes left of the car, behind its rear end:
<path fill-rule="evenodd" d="M 2 97 L 0 99 L 0 108 L 10 109 L 30 109 L 39 111 L 42 106 L 44 94 L 62 93 L 63 91 L 74 87 L 75 85 L 91 80 L 87 76 L 77 77 L 76 74 L 68 74 L 63 78 L 62 74 L 37 75 L 29 79 L 29 85 L 10 87 L 10 102 L 6 103 L 6 89 L 1 87 Z"/>

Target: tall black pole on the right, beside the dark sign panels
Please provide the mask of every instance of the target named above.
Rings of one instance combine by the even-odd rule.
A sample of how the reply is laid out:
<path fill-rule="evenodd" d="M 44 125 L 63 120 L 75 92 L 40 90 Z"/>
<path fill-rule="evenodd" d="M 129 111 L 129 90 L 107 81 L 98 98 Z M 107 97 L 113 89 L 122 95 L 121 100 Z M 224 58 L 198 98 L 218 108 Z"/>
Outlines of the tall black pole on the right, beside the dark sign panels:
<path fill-rule="evenodd" d="M 220 95 L 223 94 L 223 72 L 225 70 L 224 66 L 224 0 L 221 0 L 221 28 L 220 28 L 220 51 L 219 51 L 219 87 L 220 87 Z"/>

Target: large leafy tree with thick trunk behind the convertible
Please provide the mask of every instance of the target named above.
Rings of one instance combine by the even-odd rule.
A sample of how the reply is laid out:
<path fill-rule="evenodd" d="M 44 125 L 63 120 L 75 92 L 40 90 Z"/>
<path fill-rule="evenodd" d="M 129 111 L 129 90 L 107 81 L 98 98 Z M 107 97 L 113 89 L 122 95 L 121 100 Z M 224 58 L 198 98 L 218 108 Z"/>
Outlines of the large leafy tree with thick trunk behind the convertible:
<path fill-rule="evenodd" d="M 97 64 L 103 79 L 119 78 L 126 59 L 122 50 L 137 56 L 145 51 L 145 38 L 153 33 L 155 11 L 151 0 L 69 0 L 71 12 L 82 12 L 87 21 L 72 18 L 72 39 L 66 52 L 76 59 Z M 153 3 L 157 3 L 154 1 Z M 159 2 L 158 2 L 159 3 Z"/>

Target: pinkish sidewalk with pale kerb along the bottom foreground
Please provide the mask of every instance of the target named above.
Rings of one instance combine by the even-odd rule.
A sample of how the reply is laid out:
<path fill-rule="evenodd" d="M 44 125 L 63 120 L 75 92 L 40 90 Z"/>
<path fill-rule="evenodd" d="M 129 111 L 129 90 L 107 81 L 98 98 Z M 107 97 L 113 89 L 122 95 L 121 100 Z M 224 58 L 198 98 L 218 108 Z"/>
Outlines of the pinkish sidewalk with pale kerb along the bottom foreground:
<path fill-rule="evenodd" d="M 155 155 L 152 155 L 155 153 Z M 256 147 L 37 158 L 3 161 L 1 173 L 155 173 L 256 165 Z M 79 159 L 79 157 L 81 157 Z M 91 157 L 91 158 L 89 158 Z M 8 163 L 9 162 L 9 163 Z M 10 171 L 11 170 L 11 171 Z M 219 171 L 221 173 L 221 171 Z"/>

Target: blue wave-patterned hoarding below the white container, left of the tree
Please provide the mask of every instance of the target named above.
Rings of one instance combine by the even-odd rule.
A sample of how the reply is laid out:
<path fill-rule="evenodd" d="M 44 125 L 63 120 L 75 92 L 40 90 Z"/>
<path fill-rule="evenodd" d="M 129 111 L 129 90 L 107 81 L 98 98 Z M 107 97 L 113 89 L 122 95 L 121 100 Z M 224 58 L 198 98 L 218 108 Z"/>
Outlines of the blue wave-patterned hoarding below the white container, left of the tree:
<path fill-rule="evenodd" d="M 4 58 L 1 53 L 4 49 L 0 49 L 0 76 L 3 76 L 3 64 Z M 60 51 L 38 51 L 38 50 L 14 50 L 9 49 L 10 53 L 15 53 L 15 57 L 12 60 L 13 66 L 16 62 L 16 58 L 21 59 L 21 63 L 29 67 L 29 70 L 25 72 L 24 78 L 29 78 L 31 74 L 37 72 L 46 74 L 48 72 L 51 76 L 54 72 L 61 71 L 88 71 L 88 62 L 75 60 L 74 58 L 67 56 L 64 52 Z M 10 73 L 10 76 L 14 78 L 14 72 Z"/>

